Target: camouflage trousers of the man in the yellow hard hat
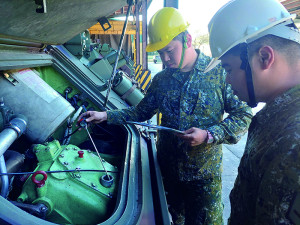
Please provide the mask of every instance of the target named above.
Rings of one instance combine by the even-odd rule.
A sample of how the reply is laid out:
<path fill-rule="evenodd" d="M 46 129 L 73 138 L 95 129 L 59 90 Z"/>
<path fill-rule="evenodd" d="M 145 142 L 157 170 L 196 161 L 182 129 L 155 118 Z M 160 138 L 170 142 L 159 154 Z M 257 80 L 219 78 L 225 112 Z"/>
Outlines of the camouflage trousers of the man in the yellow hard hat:
<path fill-rule="evenodd" d="M 168 176 L 164 186 L 174 224 L 223 224 L 221 178 L 176 182 Z"/>

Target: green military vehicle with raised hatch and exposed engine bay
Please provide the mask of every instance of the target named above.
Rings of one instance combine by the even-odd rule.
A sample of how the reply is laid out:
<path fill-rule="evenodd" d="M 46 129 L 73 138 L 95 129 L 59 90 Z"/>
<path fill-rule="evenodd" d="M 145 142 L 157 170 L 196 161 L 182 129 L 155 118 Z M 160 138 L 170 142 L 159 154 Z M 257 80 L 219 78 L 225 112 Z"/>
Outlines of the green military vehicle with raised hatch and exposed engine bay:
<path fill-rule="evenodd" d="M 128 53 L 118 59 L 84 31 L 126 3 L 10 0 L 0 7 L 0 224 L 170 224 L 155 218 L 163 217 L 154 205 L 165 196 L 154 134 L 150 143 L 130 124 L 76 130 L 84 111 L 143 98 Z M 95 146 L 105 161 L 88 150 Z"/>

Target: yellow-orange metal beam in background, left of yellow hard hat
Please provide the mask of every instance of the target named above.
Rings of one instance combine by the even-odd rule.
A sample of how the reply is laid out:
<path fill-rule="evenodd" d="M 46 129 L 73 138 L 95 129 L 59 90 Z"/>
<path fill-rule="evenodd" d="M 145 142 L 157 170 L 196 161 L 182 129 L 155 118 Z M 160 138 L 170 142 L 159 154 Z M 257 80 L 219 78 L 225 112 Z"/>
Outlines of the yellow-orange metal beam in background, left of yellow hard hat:
<path fill-rule="evenodd" d="M 109 20 L 111 28 L 107 31 L 104 31 L 99 23 L 90 27 L 88 30 L 90 34 L 122 34 L 124 21 L 119 20 Z M 140 30 L 142 30 L 142 22 L 140 22 Z M 129 21 L 127 24 L 127 29 L 125 34 L 136 34 L 136 24 L 133 21 Z"/>

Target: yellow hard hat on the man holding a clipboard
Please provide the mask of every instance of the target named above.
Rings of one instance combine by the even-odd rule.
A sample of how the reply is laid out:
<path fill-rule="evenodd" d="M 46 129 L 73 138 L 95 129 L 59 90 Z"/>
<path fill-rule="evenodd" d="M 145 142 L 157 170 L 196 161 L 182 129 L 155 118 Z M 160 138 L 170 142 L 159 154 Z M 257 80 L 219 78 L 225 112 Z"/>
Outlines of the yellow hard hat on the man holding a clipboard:
<path fill-rule="evenodd" d="M 189 26 L 179 13 L 172 7 L 158 10 L 148 25 L 149 44 L 146 52 L 154 52 L 167 46 L 174 37 L 185 31 Z"/>

